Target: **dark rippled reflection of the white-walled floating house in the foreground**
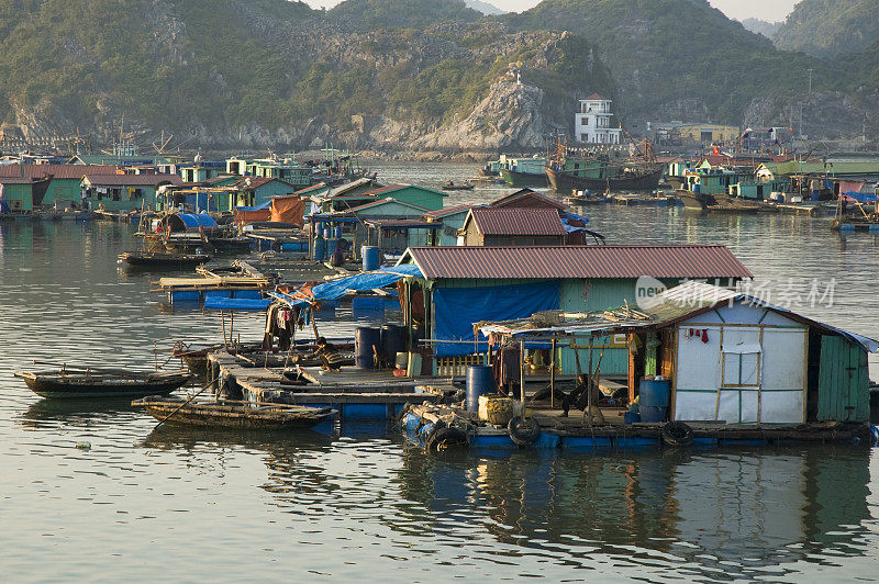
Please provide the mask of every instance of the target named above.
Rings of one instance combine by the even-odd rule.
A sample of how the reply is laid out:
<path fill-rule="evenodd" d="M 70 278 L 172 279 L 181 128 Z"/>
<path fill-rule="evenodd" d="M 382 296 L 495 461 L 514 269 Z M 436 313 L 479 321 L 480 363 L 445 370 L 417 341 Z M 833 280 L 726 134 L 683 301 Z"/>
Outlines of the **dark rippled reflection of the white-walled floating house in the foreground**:
<path fill-rule="evenodd" d="M 467 517 L 516 548 L 508 553 L 539 549 L 581 565 L 596 554 L 670 563 L 700 579 L 780 573 L 833 546 L 850 553 L 871 518 L 868 457 L 850 449 L 479 459 L 409 451 L 399 478 L 401 495 L 429 510 L 436 528 Z"/>

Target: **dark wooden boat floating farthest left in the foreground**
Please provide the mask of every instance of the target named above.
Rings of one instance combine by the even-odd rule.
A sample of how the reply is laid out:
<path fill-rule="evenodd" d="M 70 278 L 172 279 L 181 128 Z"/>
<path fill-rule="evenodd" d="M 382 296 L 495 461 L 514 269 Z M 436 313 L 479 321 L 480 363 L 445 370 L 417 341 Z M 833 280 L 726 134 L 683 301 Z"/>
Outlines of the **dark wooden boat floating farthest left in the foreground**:
<path fill-rule="evenodd" d="M 48 398 L 167 395 L 192 379 L 189 373 L 124 369 L 24 371 L 15 377 L 22 378 L 35 394 Z"/>

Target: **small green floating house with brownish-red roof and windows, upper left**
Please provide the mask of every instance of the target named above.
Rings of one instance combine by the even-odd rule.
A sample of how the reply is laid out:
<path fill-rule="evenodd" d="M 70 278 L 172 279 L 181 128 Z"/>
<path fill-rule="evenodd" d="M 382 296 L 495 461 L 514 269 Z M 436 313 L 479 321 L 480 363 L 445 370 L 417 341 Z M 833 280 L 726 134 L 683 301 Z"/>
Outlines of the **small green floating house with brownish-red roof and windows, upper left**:
<path fill-rule="evenodd" d="M 163 186 L 180 186 L 177 175 L 86 175 L 81 189 L 89 209 L 134 211 L 155 209 L 156 191 Z"/>

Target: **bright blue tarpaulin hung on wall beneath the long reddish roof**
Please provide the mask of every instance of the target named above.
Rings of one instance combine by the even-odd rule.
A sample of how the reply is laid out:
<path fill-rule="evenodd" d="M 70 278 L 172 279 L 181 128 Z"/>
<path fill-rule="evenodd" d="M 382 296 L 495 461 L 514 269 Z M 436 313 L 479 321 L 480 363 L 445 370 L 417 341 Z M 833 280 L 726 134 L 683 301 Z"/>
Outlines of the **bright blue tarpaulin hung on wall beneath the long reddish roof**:
<path fill-rule="evenodd" d="M 527 318 L 541 311 L 559 307 L 558 282 L 499 285 L 492 288 L 437 288 L 433 291 L 438 340 L 468 340 L 469 342 L 437 342 L 436 357 L 471 355 L 474 351 L 474 323 L 480 321 L 513 321 Z M 480 349 L 488 340 L 481 333 Z"/>

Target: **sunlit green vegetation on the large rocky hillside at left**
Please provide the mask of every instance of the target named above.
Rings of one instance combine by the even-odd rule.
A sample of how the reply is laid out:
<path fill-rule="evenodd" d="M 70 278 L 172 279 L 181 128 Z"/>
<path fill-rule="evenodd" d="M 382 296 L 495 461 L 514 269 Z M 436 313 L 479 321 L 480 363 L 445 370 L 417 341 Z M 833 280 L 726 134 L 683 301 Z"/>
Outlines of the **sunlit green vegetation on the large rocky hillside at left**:
<path fill-rule="evenodd" d="M 435 125 L 466 116 L 509 61 L 552 36 L 467 24 L 482 16 L 459 0 L 349 0 L 327 13 L 286 0 L 0 0 L 0 121 L 36 112 L 62 133 L 102 126 L 104 136 L 123 112 L 130 130 L 213 135 L 345 131 L 355 114 Z M 457 23 L 424 32 L 448 19 Z M 565 46 L 588 46 L 577 43 Z M 585 69 L 527 67 L 559 99 L 577 83 L 612 91 L 600 64 L 600 85 Z M 564 109 L 553 98 L 547 108 Z"/>

